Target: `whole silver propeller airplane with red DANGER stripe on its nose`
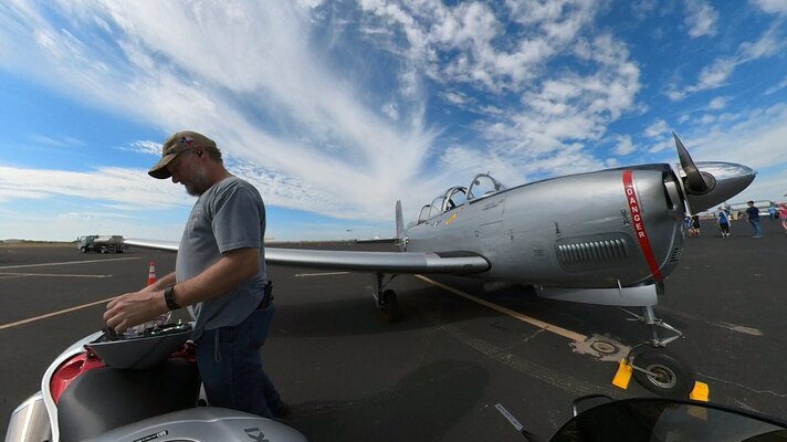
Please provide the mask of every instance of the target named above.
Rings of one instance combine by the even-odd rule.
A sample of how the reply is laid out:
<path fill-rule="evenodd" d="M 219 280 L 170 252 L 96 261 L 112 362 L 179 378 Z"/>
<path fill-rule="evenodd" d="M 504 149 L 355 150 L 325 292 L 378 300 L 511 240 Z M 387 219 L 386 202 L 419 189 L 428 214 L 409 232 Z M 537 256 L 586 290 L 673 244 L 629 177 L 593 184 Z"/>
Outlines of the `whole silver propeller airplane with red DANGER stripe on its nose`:
<path fill-rule="evenodd" d="M 399 274 L 465 275 L 485 288 L 533 286 L 539 296 L 588 304 L 641 307 L 651 339 L 626 360 L 649 390 L 685 396 L 689 366 L 664 347 L 683 334 L 658 319 L 653 306 L 683 253 L 684 217 L 739 193 L 755 178 L 731 162 L 695 164 L 673 134 L 680 167 L 621 167 L 505 188 L 489 173 L 452 187 L 423 206 L 405 228 L 396 207 L 399 252 L 265 249 L 269 264 L 371 272 L 376 303 L 392 322 Z M 171 242 L 128 244 L 177 251 Z M 628 311 L 627 311 L 628 312 Z M 672 336 L 659 336 L 659 327 Z M 649 348 L 650 347 L 650 348 Z"/>

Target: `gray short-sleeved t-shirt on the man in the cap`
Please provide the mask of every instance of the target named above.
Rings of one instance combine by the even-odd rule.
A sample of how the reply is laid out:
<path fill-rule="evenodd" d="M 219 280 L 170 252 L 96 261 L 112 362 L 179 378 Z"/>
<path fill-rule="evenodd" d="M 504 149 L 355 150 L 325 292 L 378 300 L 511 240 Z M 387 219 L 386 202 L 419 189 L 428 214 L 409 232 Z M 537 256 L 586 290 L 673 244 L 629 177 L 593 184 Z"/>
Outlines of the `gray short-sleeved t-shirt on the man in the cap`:
<path fill-rule="evenodd" d="M 240 324 L 260 305 L 266 281 L 264 236 L 265 206 L 254 186 L 229 177 L 197 199 L 180 239 L 177 281 L 190 280 L 223 253 L 243 248 L 260 248 L 260 272 L 237 290 L 189 307 L 197 320 L 195 340 L 202 330 Z"/>

